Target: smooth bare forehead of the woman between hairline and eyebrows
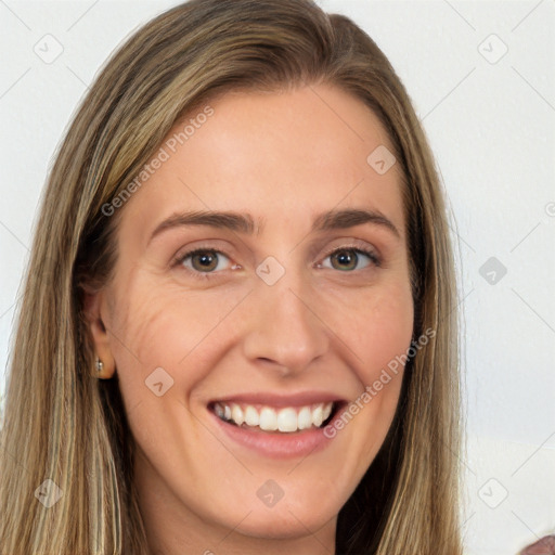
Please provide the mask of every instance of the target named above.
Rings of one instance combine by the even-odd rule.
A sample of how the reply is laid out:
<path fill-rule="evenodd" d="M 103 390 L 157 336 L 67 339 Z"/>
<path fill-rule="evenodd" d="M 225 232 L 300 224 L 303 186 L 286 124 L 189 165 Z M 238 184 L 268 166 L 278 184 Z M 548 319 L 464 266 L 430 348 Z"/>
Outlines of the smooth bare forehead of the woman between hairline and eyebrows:
<path fill-rule="evenodd" d="M 389 165 L 391 151 L 376 115 L 336 88 L 229 92 L 173 126 L 124 220 L 141 234 L 185 209 L 249 211 L 270 227 L 276 219 L 308 225 L 310 212 L 364 206 L 402 229 L 398 165 L 386 172 L 375 166 L 384 155 Z"/>

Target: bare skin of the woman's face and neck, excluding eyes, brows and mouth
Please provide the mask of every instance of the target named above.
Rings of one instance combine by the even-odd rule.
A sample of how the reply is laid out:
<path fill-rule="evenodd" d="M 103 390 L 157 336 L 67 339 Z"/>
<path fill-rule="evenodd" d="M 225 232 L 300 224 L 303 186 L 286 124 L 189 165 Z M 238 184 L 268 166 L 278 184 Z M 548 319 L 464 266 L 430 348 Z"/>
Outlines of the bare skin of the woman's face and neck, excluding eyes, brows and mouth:
<path fill-rule="evenodd" d="M 330 86 L 233 92 L 210 106 L 121 208 L 114 279 L 88 299 L 101 377 L 119 376 L 152 553 L 328 555 L 337 514 L 391 424 L 402 369 L 326 449 L 301 459 L 235 443 L 207 403 L 254 391 L 354 400 L 406 352 L 413 302 L 398 166 L 378 175 L 366 163 L 378 145 L 392 151 L 387 133 Z M 379 211 L 398 235 L 376 223 L 311 232 L 317 215 L 346 208 Z M 206 209 L 263 225 L 176 227 L 150 241 L 171 215 Z M 197 247 L 225 255 L 204 280 L 191 258 L 173 263 Z M 371 248 L 379 266 L 364 255 L 333 266 L 333 250 L 353 247 Z M 271 286 L 256 273 L 269 256 L 285 270 Z M 173 379 L 162 397 L 145 386 L 157 367 Z M 268 479 L 284 492 L 272 507 L 257 496 Z"/>

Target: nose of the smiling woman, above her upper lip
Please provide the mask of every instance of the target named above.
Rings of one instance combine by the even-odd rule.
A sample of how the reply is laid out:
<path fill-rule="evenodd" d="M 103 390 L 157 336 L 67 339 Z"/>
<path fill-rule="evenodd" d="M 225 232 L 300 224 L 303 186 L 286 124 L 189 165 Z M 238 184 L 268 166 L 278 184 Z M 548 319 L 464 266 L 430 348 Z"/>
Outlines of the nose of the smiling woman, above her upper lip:
<path fill-rule="evenodd" d="M 287 376 L 325 354 L 328 330 L 318 315 L 314 296 L 298 281 L 294 284 L 283 278 L 271 286 L 258 283 L 250 297 L 243 341 L 247 360 Z"/>

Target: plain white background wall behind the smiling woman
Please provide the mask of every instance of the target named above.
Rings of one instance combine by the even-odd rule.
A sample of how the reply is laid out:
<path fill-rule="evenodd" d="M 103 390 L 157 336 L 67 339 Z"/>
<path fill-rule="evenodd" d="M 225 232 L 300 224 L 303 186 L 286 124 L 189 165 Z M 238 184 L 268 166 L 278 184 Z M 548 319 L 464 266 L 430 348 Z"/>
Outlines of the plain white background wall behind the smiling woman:
<path fill-rule="evenodd" d="M 114 48 L 176 3 L 0 1 L 0 374 L 64 129 Z M 555 1 L 319 3 L 382 48 L 435 152 L 465 321 L 466 548 L 517 553 L 555 533 Z"/>

